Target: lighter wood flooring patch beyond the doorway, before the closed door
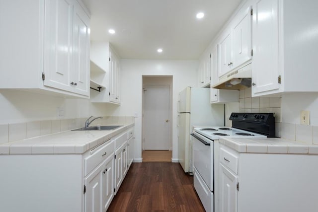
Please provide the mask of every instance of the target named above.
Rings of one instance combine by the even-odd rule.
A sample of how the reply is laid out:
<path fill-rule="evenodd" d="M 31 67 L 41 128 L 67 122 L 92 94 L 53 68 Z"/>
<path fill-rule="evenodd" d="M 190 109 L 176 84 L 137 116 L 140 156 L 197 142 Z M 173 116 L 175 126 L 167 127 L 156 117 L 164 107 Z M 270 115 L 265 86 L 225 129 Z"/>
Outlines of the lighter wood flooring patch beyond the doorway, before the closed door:
<path fill-rule="evenodd" d="M 169 150 L 144 150 L 143 162 L 171 162 L 172 151 Z"/>

